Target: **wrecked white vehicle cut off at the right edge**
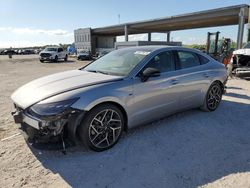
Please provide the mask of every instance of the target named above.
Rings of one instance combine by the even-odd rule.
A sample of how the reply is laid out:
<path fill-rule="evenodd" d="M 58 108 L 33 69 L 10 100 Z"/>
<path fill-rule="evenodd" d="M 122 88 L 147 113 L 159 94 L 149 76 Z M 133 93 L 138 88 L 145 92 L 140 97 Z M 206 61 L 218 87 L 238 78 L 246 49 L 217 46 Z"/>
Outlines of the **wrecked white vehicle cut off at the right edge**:
<path fill-rule="evenodd" d="M 227 66 L 229 74 L 237 77 L 250 77 L 250 42 L 242 49 L 235 50 L 230 64 Z"/>

